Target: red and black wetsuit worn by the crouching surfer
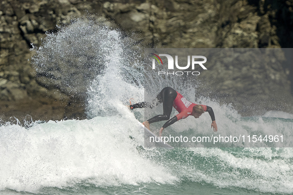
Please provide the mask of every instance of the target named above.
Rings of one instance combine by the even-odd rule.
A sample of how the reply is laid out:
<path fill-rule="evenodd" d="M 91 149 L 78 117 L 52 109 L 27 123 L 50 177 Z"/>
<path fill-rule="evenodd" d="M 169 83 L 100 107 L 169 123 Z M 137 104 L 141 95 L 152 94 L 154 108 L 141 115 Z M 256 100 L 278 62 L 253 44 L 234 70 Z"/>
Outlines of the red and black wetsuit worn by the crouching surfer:
<path fill-rule="evenodd" d="M 163 114 L 154 116 L 153 118 L 149 119 L 148 122 L 154 123 L 154 122 L 159 122 L 163 120 L 168 120 L 164 125 L 163 128 L 165 129 L 166 127 L 172 125 L 176 121 L 180 119 L 184 119 L 191 115 L 193 106 L 197 105 L 195 103 L 192 103 L 188 101 L 186 98 L 184 98 L 181 94 L 176 92 L 174 89 L 170 87 L 164 88 L 157 96 L 157 99 L 159 100 L 159 103 L 163 103 Z M 131 109 L 133 108 L 138 108 L 138 107 L 153 107 L 148 102 L 140 102 L 136 103 L 130 106 Z M 210 106 L 207 105 L 201 105 L 203 107 L 203 111 L 209 112 L 212 121 L 215 120 L 215 114 L 213 109 Z M 174 116 L 173 118 L 170 119 L 170 115 L 172 112 L 172 107 L 174 107 L 179 114 Z"/>

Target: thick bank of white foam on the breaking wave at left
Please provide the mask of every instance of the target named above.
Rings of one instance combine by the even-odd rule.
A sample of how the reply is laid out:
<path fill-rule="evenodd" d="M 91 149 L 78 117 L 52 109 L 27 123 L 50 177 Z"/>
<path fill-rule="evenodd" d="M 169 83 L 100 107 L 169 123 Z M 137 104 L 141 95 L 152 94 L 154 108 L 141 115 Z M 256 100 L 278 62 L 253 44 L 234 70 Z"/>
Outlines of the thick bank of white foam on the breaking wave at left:
<path fill-rule="evenodd" d="M 143 131 L 133 124 L 132 115 L 49 121 L 29 129 L 2 126 L 0 190 L 34 192 L 83 180 L 97 186 L 176 181 L 139 154 L 136 146 L 143 145 Z"/>

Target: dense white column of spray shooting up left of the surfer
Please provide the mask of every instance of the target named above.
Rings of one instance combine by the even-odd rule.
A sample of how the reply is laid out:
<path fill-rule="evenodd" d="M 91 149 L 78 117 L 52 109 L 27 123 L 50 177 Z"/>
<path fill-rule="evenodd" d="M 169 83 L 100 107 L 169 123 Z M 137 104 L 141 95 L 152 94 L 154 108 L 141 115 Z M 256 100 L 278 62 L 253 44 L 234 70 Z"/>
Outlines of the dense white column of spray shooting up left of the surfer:
<path fill-rule="evenodd" d="M 111 34 L 117 40 L 116 46 L 106 57 L 109 59 L 104 64 L 106 67 L 104 73 L 97 75 L 89 85 L 88 117 L 123 114 L 119 106 L 129 105 L 130 98 L 143 100 L 143 75 L 141 71 L 138 71 L 142 65 L 139 61 L 128 60 L 128 56 L 132 57 L 138 53 L 130 49 L 129 43 L 126 44 L 121 40 L 118 32 L 111 32 Z M 112 42 L 112 40 L 109 41 Z M 107 45 L 106 43 L 105 47 Z"/>

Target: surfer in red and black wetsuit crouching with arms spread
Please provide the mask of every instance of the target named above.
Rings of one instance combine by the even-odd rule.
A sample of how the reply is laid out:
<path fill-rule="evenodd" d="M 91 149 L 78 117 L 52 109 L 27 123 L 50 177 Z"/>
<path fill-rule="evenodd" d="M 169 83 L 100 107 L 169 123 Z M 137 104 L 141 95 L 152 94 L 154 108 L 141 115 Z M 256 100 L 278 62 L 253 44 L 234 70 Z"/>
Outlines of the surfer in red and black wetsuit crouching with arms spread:
<path fill-rule="evenodd" d="M 144 121 L 143 124 L 146 128 L 150 129 L 151 123 L 168 120 L 160 129 L 160 132 L 159 132 L 160 137 L 162 136 L 163 130 L 166 127 L 175 123 L 176 121 L 184 119 L 190 115 L 194 116 L 194 118 L 198 118 L 204 112 L 209 112 L 212 119 L 211 128 L 214 128 L 214 132 L 218 131 L 217 123 L 215 120 L 215 114 L 213 109 L 210 106 L 192 103 L 188 101 L 186 98 L 184 98 L 181 94 L 176 92 L 176 90 L 174 90 L 171 87 L 164 88 L 158 94 L 156 105 L 158 105 L 159 103 L 163 103 L 163 114 L 154 116 L 153 118 L 150 118 L 149 120 Z M 129 108 L 130 109 L 143 108 L 143 107 L 153 108 L 154 106 L 155 106 L 154 103 L 139 102 L 139 103 L 130 105 Z M 177 114 L 176 116 L 170 119 L 172 107 L 174 107 L 179 112 L 179 114 Z"/>

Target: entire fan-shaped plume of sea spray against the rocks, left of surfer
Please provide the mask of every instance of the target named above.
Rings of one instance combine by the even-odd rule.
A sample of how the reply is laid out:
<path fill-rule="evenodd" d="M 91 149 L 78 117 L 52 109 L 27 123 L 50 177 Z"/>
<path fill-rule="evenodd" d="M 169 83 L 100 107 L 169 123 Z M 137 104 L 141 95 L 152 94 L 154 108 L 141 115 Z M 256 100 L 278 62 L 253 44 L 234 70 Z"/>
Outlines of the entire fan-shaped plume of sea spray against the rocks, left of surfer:
<path fill-rule="evenodd" d="M 46 33 L 42 46 L 33 50 L 38 82 L 87 99 L 89 118 L 112 115 L 115 105 L 126 105 L 129 98 L 143 100 L 140 49 L 119 30 L 79 18 Z"/>

